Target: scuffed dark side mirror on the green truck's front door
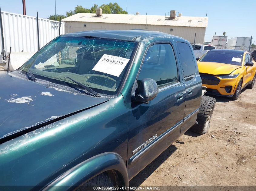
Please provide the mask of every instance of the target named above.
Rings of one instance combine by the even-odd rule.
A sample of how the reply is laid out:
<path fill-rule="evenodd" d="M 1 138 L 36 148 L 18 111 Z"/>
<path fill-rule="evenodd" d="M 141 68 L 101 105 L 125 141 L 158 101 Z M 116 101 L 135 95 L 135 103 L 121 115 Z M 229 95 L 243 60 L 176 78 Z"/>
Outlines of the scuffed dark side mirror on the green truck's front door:
<path fill-rule="evenodd" d="M 132 95 L 132 100 L 142 103 L 148 103 L 153 100 L 158 94 L 158 86 L 155 80 L 150 78 L 143 78 L 138 93 Z"/>

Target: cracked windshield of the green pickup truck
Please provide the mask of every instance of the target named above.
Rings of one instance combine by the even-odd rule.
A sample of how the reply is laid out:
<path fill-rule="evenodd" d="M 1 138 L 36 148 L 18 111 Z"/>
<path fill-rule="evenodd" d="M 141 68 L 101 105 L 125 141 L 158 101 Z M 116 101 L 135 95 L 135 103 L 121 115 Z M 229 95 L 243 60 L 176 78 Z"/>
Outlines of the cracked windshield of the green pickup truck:
<path fill-rule="evenodd" d="M 36 79 L 78 87 L 74 81 L 101 94 L 116 94 L 137 43 L 93 37 L 57 37 L 21 68 Z M 71 79 L 72 80 L 71 80 Z"/>

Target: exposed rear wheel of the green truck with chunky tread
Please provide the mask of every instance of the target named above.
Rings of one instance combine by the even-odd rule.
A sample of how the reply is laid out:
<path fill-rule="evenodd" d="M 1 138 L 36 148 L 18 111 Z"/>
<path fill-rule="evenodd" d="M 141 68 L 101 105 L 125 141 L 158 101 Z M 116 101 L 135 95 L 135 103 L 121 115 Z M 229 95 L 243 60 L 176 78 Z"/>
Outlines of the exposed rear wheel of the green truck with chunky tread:
<path fill-rule="evenodd" d="M 204 134 L 210 128 L 211 116 L 215 107 L 216 100 L 213 97 L 202 96 L 200 110 L 197 114 L 197 125 L 190 129 L 196 133 Z"/>

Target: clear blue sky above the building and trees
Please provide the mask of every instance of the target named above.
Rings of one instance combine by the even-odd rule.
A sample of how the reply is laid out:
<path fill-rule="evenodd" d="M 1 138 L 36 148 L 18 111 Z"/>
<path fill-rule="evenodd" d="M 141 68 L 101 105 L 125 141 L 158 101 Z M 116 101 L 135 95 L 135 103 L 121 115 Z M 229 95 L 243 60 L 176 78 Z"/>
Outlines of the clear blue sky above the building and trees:
<path fill-rule="evenodd" d="M 74 10 L 77 5 L 91 8 L 95 3 L 102 5 L 109 2 L 117 2 L 128 14 L 150 14 L 165 15 L 165 11 L 176 10 L 183 16 L 198 16 L 209 18 L 206 29 L 205 41 L 211 41 L 215 34 L 221 36 L 226 31 L 226 36 L 231 37 L 251 37 L 256 43 L 256 0 L 56 0 L 57 14 L 65 14 L 66 11 Z M 22 0 L 2 0 L 1 9 L 3 11 L 22 14 Z M 26 0 L 26 14 L 36 16 L 36 11 L 41 18 L 48 18 L 55 14 L 54 0 Z"/>

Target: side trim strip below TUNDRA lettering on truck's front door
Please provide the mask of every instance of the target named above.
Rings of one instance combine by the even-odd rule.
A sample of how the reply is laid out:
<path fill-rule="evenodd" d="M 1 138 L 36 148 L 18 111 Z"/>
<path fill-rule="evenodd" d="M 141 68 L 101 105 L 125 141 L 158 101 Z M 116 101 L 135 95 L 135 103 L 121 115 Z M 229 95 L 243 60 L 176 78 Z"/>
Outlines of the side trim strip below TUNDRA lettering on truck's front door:
<path fill-rule="evenodd" d="M 133 164 L 135 161 L 137 161 L 139 158 L 141 158 L 141 156 L 143 154 L 145 154 L 150 148 L 152 148 L 153 145 L 155 145 L 156 143 L 160 142 L 163 138 L 165 138 L 166 136 L 170 135 L 171 132 L 174 129 L 177 129 L 179 127 L 181 127 L 181 125 L 183 124 L 183 119 L 176 123 L 174 126 L 172 126 L 170 129 L 168 129 L 166 132 L 164 132 L 161 136 L 159 136 L 157 139 L 155 139 L 154 142 L 152 142 L 150 145 L 144 147 L 144 150 L 141 150 L 140 152 L 138 152 L 137 154 L 133 155 L 130 160 L 129 160 L 129 164 Z"/>

